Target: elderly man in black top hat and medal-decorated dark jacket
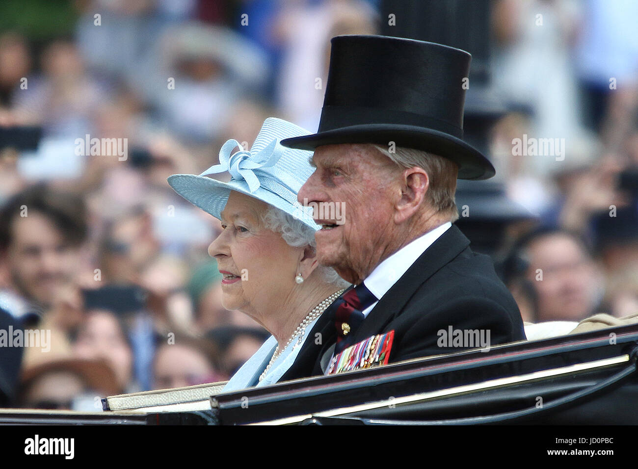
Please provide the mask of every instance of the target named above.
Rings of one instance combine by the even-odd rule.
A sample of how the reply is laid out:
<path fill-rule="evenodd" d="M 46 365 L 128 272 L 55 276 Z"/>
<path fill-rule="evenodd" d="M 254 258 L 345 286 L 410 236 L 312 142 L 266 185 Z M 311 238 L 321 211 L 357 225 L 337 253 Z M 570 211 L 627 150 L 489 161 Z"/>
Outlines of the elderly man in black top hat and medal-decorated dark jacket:
<path fill-rule="evenodd" d="M 282 142 L 315 149 L 299 202 L 322 225 L 319 262 L 354 284 L 300 351 L 308 376 L 525 339 L 490 258 L 452 225 L 456 179 L 494 175 L 462 140 L 469 66 L 434 43 L 332 39 L 319 131 Z"/>

